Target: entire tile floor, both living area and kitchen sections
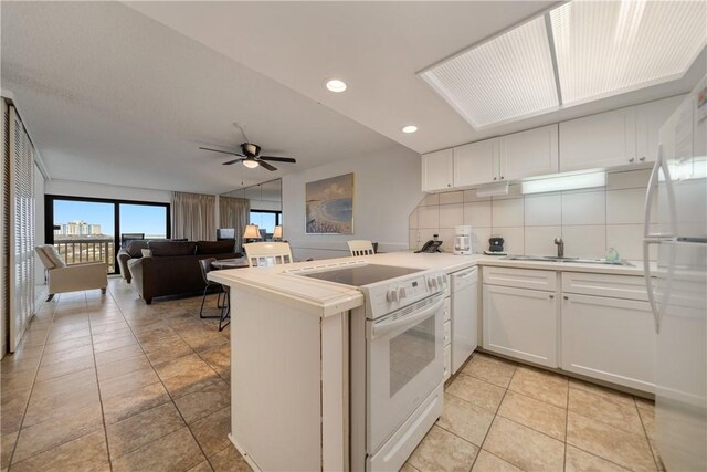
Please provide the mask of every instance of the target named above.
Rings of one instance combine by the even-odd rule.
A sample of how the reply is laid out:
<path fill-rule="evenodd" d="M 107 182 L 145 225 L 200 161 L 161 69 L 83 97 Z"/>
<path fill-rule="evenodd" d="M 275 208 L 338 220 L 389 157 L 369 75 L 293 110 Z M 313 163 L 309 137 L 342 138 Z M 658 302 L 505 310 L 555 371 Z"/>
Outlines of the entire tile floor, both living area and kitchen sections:
<path fill-rule="evenodd" d="M 112 279 L 44 304 L 2 360 L 0 469 L 249 471 L 226 438 L 229 329 L 200 302 L 146 305 Z M 653 419 L 650 401 L 475 354 L 403 470 L 656 470 Z"/>

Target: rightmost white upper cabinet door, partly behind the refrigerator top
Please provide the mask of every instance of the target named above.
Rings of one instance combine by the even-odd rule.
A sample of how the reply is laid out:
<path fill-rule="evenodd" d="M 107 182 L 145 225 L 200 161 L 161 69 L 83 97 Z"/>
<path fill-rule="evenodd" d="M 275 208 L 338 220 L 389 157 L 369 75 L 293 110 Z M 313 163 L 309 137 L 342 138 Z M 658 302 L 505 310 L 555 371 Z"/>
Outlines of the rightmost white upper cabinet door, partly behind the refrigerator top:
<path fill-rule="evenodd" d="M 677 95 L 636 106 L 636 157 L 640 162 L 658 158 L 658 130 L 685 99 Z"/>

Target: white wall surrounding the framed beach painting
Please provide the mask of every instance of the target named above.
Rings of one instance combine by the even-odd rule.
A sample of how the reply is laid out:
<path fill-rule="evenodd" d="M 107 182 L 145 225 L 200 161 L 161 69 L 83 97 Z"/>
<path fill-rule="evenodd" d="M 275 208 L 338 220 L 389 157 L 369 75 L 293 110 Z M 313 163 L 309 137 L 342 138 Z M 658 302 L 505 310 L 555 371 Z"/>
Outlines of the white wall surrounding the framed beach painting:
<path fill-rule="evenodd" d="M 296 259 L 348 255 L 346 241 L 367 239 L 379 251 L 408 249 L 408 216 L 423 197 L 420 155 L 394 148 L 283 177 L 283 232 Z M 354 234 L 305 234 L 305 185 L 354 172 Z"/>

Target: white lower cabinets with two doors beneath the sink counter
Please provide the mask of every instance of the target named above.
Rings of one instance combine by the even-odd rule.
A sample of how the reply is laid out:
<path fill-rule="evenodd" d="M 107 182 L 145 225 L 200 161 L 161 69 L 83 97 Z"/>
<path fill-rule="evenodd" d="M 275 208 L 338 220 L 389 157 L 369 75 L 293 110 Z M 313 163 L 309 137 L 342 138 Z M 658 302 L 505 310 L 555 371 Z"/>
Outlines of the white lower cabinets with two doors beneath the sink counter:
<path fill-rule="evenodd" d="M 654 391 L 657 337 L 642 276 L 488 266 L 483 283 L 486 350 Z"/>

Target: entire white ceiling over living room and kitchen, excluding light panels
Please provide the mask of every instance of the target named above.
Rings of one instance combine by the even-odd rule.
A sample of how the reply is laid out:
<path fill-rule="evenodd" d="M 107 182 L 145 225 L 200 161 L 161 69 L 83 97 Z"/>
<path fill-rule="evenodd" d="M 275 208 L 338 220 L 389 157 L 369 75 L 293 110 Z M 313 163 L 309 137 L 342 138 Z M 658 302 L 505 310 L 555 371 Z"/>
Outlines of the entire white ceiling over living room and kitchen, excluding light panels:
<path fill-rule="evenodd" d="M 416 75 L 553 2 L 0 2 L 1 86 L 52 178 L 225 192 L 397 146 L 425 153 L 684 93 L 679 81 L 474 130 Z M 324 82 L 347 81 L 331 94 Z M 297 158 L 223 167 L 243 139 Z M 404 135 L 400 128 L 416 124 Z M 411 151 L 411 158 L 414 153 Z"/>

